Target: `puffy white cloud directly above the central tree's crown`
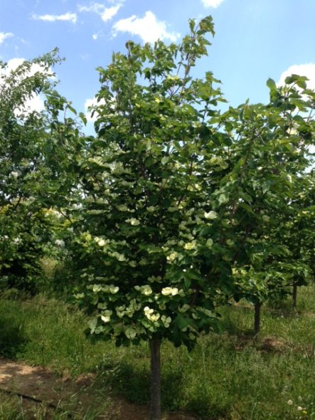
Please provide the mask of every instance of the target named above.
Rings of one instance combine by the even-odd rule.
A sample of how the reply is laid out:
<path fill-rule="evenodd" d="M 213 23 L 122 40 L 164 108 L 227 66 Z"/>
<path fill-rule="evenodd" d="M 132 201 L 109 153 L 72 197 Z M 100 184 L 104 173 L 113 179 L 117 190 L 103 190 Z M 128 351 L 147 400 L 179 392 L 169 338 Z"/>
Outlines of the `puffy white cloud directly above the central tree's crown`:
<path fill-rule="evenodd" d="M 116 36 L 117 32 L 129 32 L 132 35 L 138 35 L 144 42 L 154 42 L 157 39 L 169 39 L 176 41 L 180 33 L 168 32 L 166 23 L 158 21 L 156 16 L 151 11 L 146 11 L 143 18 L 137 18 L 133 15 L 127 19 L 121 19 L 114 23 L 112 27 L 113 35 Z"/>

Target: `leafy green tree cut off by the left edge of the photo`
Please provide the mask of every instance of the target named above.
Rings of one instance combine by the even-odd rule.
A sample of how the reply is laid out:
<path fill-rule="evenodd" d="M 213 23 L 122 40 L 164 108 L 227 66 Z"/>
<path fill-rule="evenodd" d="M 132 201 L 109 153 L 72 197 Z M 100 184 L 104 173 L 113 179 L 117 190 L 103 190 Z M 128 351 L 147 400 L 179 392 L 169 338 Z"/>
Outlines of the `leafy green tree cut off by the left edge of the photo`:
<path fill-rule="evenodd" d="M 3 285 L 31 292 L 52 239 L 45 209 L 65 203 L 78 137 L 74 120 L 60 120 L 60 111 L 73 109 L 55 91 L 52 66 L 59 62 L 53 51 L 15 70 L 1 63 L 0 70 L 0 275 Z M 36 99 L 46 110 L 31 107 Z"/>

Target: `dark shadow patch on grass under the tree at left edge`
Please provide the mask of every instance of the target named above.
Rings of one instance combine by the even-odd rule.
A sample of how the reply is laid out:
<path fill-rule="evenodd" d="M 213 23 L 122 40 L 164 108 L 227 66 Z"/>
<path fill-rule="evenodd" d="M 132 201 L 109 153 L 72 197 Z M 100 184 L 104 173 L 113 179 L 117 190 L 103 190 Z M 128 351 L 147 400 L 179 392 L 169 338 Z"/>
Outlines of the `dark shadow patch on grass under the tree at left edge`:
<path fill-rule="evenodd" d="M 0 356 L 14 359 L 26 342 L 23 320 L 0 313 Z"/>

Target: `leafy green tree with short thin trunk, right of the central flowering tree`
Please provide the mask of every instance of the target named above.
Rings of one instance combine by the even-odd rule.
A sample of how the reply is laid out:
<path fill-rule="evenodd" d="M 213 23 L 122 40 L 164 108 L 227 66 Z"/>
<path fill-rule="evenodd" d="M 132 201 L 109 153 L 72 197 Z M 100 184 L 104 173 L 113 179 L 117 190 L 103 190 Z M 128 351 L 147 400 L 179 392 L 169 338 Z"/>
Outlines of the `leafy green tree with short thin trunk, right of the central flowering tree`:
<path fill-rule="evenodd" d="M 235 297 L 255 304 L 255 332 L 262 303 L 287 295 L 294 278 L 305 281 L 307 275 L 301 243 L 289 226 L 300 219 L 297 197 L 311 189 L 306 172 L 314 144 L 314 91 L 306 78 L 292 75 L 283 87 L 273 80 L 267 85 L 268 105 L 245 104 L 225 114 L 232 170 L 221 187 L 235 225 Z"/>

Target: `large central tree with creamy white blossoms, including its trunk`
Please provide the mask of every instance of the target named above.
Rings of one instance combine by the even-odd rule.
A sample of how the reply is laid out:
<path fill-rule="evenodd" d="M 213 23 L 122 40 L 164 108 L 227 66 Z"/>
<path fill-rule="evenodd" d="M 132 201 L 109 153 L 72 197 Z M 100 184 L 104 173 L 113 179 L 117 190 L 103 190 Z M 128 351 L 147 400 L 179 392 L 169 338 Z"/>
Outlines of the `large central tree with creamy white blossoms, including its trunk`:
<path fill-rule="evenodd" d="M 215 297 L 230 288 L 225 196 L 209 199 L 221 174 L 208 182 L 204 165 L 217 159 L 220 168 L 215 156 L 226 147 L 208 124 L 223 98 L 212 73 L 191 75 L 212 19 L 190 28 L 180 45 L 128 42 L 99 68 L 97 138 L 78 190 L 86 288 L 77 296 L 95 311 L 92 334 L 117 345 L 149 341 L 152 420 L 161 416 L 161 340 L 193 347 L 217 325 Z"/>

